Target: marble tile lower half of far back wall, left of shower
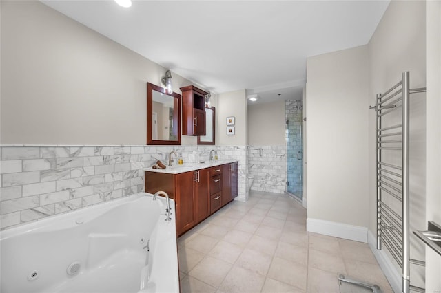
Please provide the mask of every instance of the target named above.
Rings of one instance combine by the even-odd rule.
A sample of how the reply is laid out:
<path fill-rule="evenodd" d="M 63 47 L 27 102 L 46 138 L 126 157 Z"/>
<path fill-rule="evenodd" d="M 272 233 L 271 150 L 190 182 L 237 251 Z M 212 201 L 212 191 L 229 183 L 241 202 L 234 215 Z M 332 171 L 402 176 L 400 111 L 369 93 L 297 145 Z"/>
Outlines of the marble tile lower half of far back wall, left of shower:
<path fill-rule="evenodd" d="M 248 146 L 248 172 L 254 175 L 252 191 L 285 193 L 287 163 L 285 146 Z"/>

